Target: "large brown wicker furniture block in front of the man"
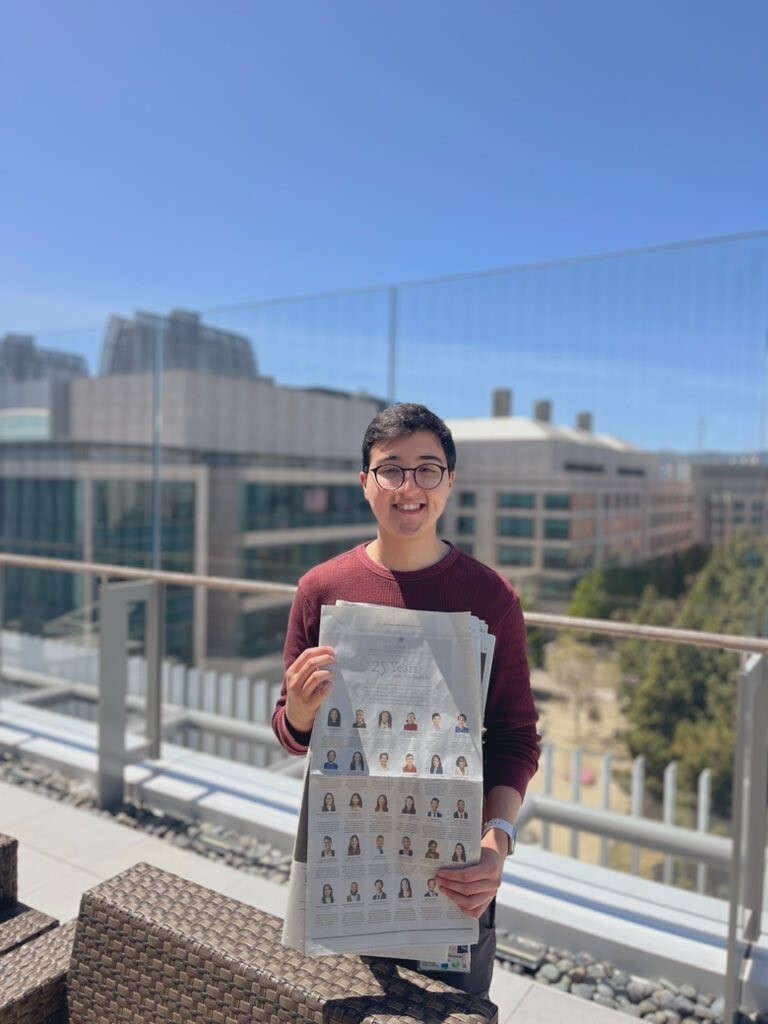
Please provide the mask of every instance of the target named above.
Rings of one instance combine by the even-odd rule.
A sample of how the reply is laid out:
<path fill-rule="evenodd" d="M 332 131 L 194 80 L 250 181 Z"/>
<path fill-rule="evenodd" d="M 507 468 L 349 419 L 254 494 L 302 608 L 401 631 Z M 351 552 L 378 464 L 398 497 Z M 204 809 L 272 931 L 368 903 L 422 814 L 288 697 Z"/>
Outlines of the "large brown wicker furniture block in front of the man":
<path fill-rule="evenodd" d="M 307 958 L 282 922 L 147 864 L 85 893 L 71 1024 L 495 1024 L 496 1008 L 387 961 Z"/>

